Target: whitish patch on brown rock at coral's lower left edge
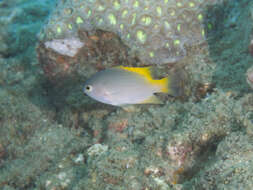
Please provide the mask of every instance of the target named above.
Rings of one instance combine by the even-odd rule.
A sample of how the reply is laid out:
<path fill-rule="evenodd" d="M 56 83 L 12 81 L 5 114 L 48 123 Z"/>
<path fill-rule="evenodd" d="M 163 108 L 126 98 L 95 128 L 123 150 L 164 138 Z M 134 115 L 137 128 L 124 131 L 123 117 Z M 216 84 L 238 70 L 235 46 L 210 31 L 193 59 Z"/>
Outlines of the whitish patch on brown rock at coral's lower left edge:
<path fill-rule="evenodd" d="M 51 48 L 59 54 L 74 57 L 84 43 L 78 38 L 55 39 L 45 42 L 46 48 Z"/>

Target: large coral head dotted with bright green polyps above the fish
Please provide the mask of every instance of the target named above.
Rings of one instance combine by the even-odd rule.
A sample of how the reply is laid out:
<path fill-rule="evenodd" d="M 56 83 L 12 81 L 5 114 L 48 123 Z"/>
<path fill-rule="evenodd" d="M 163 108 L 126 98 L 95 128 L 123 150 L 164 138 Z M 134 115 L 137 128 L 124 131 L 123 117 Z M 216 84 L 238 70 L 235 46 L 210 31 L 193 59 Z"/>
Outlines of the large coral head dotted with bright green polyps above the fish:
<path fill-rule="evenodd" d="M 208 7 L 219 0 L 62 1 L 41 34 L 43 41 L 78 37 L 78 30 L 117 34 L 149 64 L 180 60 L 186 45 L 203 42 L 215 27 Z"/>

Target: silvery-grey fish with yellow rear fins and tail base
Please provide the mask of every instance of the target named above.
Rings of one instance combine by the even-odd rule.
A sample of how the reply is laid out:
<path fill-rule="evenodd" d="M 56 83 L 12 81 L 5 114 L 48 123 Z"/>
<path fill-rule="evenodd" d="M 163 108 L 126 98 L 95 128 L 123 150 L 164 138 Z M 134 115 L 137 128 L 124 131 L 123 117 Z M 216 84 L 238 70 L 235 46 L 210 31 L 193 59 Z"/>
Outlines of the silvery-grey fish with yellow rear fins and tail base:
<path fill-rule="evenodd" d="M 161 103 L 154 93 L 167 91 L 167 78 L 153 80 L 149 78 L 149 73 L 143 75 L 122 68 L 96 73 L 85 82 L 84 93 L 99 102 L 115 106 Z"/>

